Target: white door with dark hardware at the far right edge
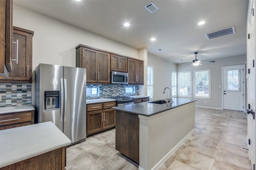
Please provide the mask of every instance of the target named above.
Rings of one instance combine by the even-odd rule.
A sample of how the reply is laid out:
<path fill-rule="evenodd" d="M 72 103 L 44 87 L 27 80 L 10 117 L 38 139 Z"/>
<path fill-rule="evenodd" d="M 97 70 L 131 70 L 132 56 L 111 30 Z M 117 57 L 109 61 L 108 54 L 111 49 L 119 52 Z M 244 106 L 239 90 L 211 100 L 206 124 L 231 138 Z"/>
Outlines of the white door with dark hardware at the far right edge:
<path fill-rule="evenodd" d="M 255 3 L 252 2 L 252 8 L 251 10 L 253 10 L 253 8 L 255 9 Z M 254 10 L 255 13 L 255 10 Z M 254 14 L 255 15 L 255 14 Z M 250 74 L 249 72 L 247 72 L 247 102 L 248 102 L 248 106 L 247 106 L 247 111 L 252 112 L 249 113 L 247 115 L 247 127 L 248 127 L 248 139 L 250 139 L 250 145 L 248 144 L 248 156 L 249 159 L 251 160 L 251 165 L 252 165 L 252 169 L 254 169 L 254 164 L 256 162 L 256 127 L 255 127 L 255 106 L 256 106 L 256 102 L 255 102 L 255 96 L 256 96 L 256 70 L 255 70 L 255 66 L 254 66 L 254 61 L 256 59 L 256 41 L 255 41 L 255 34 L 256 34 L 256 27 L 255 27 L 255 23 L 256 23 L 256 18 L 255 16 L 253 16 L 253 13 L 251 12 L 250 18 L 249 18 L 249 23 L 248 23 L 248 34 L 250 34 L 250 39 L 247 39 L 247 68 L 248 70 L 250 69 Z M 253 64 L 254 63 L 254 64 Z"/>

